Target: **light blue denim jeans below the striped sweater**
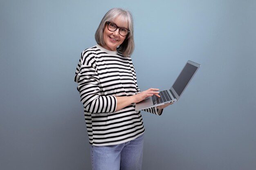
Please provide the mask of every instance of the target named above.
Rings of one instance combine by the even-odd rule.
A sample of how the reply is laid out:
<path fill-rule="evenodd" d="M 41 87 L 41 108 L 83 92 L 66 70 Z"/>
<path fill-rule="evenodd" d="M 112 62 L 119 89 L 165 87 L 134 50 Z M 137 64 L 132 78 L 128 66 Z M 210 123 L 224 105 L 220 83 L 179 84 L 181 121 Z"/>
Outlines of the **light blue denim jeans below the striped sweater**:
<path fill-rule="evenodd" d="M 92 146 L 92 170 L 141 170 L 144 134 L 132 141 Z"/>

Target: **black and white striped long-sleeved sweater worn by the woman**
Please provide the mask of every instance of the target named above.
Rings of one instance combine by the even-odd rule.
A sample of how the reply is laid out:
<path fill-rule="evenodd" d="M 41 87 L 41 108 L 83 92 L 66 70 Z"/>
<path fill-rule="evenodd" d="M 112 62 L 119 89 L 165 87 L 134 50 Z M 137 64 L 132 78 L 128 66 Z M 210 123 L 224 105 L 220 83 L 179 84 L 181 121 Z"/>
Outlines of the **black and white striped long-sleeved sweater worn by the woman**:
<path fill-rule="evenodd" d="M 99 45 L 86 49 L 81 53 L 75 82 L 84 106 L 90 144 L 121 144 L 144 133 L 143 120 L 140 112 L 135 111 L 135 104 L 116 111 L 115 96 L 140 92 L 130 57 Z M 145 111 L 158 115 L 157 108 Z"/>

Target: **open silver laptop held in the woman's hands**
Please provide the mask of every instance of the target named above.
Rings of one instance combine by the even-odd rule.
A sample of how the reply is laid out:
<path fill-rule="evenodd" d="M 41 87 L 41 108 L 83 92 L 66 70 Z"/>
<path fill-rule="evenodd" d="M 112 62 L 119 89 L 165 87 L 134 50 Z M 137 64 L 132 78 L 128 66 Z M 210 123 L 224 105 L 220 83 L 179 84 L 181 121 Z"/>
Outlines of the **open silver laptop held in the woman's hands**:
<path fill-rule="evenodd" d="M 177 102 L 195 75 L 196 71 L 198 71 L 199 67 L 200 64 L 190 60 L 187 61 L 182 71 L 180 72 L 180 75 L 177 77 L 170 89 L 160 91 L 159 95 L 161 97 L 153 95 L 152 97 L 147 97 L 141 102 L 138 102 L 135 104 L 135 110 L 142 110 L 150 107 Z"/>

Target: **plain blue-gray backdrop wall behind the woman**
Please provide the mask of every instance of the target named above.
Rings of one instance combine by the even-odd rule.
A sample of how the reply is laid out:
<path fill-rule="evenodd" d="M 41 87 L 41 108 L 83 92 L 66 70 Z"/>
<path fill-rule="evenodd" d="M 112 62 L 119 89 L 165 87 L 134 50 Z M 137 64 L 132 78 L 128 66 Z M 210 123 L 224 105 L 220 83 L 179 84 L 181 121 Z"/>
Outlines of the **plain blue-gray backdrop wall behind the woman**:
<path fill-rule="evenodd" d="M 90 169 L 73 78 L 112 7 L 134 15 L 141 90 L 202 64 L 162 116 L 142 113 L 143 170 L 255 170 L 255 0 L 1 0 L 0 169 Z"/>

